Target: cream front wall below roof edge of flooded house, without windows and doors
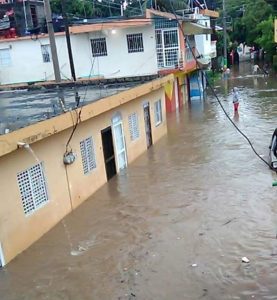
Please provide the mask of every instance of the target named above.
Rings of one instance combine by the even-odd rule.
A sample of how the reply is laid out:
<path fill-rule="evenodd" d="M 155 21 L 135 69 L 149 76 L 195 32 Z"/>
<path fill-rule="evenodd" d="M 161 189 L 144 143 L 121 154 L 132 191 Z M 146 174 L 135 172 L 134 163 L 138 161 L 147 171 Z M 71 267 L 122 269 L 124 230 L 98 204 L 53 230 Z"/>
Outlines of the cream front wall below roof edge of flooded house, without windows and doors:
<path fill-rule="evenodd" d="M 162 100 L 163 122 L 156 126 L 154 102 L 159 99 Z M 23 211 L 17 173 L 37 164 L 37 161 L 26 149 L 18 149 L 0 157 L 0 244 L 6 263 L 52 228 L 71 211 L 72 207 L 76 208 L 105 184 L 107 180 L 101 130 L 111 126 L 111 119 L 115 113 L 120 112 L 122 115 L 128 163 L 131 163 L 146 151 L 143 115 L 143 103 L 145 101 L 150 103 L 152 136 L 155 143 L 167 132 L 163 88 L 135 98 L 125 104 L 122 101 L 122 105 L 110 110 L 108 110 L 108 107 L 111 105 L 111 101 L 106 101 L 106 112 L 87 119 L 78 126 L 70 143 L 73 152 L 77 154 L 77 159 L 67 168 L 63 164 L 63 154 L 72 131 L 71 128 L 32 143 L 31 148 L 44 165 L 49 202 L 28 216 Z M 133 112 L 138 114 L 139 119 L 140 135 L 136 141 L 130 140 L 128 127 L 128 115 Z M 62 115 L 57 118 L 62 118 Z M 30 127 L 32 126 L 36 125 Z M 90 136 L 94 141 L 96 169 L 84 175 L 80 141 Z"/>

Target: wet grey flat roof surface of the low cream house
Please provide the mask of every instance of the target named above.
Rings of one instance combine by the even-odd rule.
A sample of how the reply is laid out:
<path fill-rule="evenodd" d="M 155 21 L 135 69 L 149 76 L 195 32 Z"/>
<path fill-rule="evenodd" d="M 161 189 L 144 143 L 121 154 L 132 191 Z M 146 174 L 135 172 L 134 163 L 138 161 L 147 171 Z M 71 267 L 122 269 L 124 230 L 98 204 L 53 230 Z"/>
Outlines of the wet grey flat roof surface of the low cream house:
<path fill-rule="evenodd" d="M 80 106 L 128 90 L 141 82 L 126 84 L 60 87 L 47 90 L 17 90 L 0 92 L 0 135 L 53 118 L 76 107 L 78 91 Z"/>

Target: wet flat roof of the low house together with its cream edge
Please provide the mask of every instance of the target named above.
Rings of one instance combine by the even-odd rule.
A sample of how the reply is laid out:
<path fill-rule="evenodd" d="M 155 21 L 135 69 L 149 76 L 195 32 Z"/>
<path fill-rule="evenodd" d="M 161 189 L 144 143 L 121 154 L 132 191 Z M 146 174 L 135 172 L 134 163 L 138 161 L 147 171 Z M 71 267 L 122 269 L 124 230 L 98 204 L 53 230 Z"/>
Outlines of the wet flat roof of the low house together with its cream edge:
<path fill-rule="evenodd" d="M 9 120 L 9 124 L 14 126 L 14 131 L 0 135 L 0 156 L 15 151 L 18 148 L 18 142 L 32 144 L 71 128 L 73 123 L 76 123 L 80 110 L 82 110 L 81 122 L 83 122 L 158 90 L 173 80 L 174 76 L 171 74 L 144 84 L 136 83 L 135 86 L 104 87 L 98 90 L 89 89 L 87 92 L 83 89 L 80 91 L 80 95 L 86 94 L 86 101 L 82 103 L 82 107 L 75 109 L 76 113 L 72 113 L 72 110 L 65 113 L 62 109 L 58 110 L 57 91 L 56 93 L 52 92 L 48 97 L 45 93 L 32 94 L 28 96 L 28 100 L 23 95 L 20 96 L 20 93 L 11 93 L 10 97 L 6 94 L 6 100 L 4 98 L 4 101 L 3 99 L 0 101 L 0 105 L 2 105 L 0 120 Z M 74 108 L 74 90 L 66 93 L 69 93 L 68 96 L 70 96 L 66 98 L 66 108 Z M 54 108 L 57 108 L 56 112 Z M 23 128 L 18 129 L 19 124 Z"/>

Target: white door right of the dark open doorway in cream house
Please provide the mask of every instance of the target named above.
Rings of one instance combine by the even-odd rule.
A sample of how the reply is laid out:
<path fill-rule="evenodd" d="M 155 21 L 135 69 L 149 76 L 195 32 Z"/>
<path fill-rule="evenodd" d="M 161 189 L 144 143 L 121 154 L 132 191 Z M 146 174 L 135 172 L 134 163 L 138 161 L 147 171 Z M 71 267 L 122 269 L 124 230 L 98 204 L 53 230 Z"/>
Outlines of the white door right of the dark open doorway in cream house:
<path fill-rule="evenodd" d="M 117 165 L 118 165 L 118 169 L 122 170 L 127 167 L 127 155 L 126 155 L 122 118 L 120 113 L 117 113 L 113 116 L 112 124 L 113 124 L 116 156 L 117 156 Z"/>

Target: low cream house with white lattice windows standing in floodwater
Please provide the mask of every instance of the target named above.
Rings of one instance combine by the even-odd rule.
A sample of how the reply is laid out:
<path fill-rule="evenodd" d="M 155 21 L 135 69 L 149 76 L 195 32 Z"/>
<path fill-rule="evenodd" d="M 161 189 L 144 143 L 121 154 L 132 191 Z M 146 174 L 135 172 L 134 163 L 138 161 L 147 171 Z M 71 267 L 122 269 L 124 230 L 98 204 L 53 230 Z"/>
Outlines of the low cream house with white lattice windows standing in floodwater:
<path fill-rule="evenodd" d="M 1 266 L 166 134 L 164 87 L 172 81 L 168 75 L 0 136 Z"/>

